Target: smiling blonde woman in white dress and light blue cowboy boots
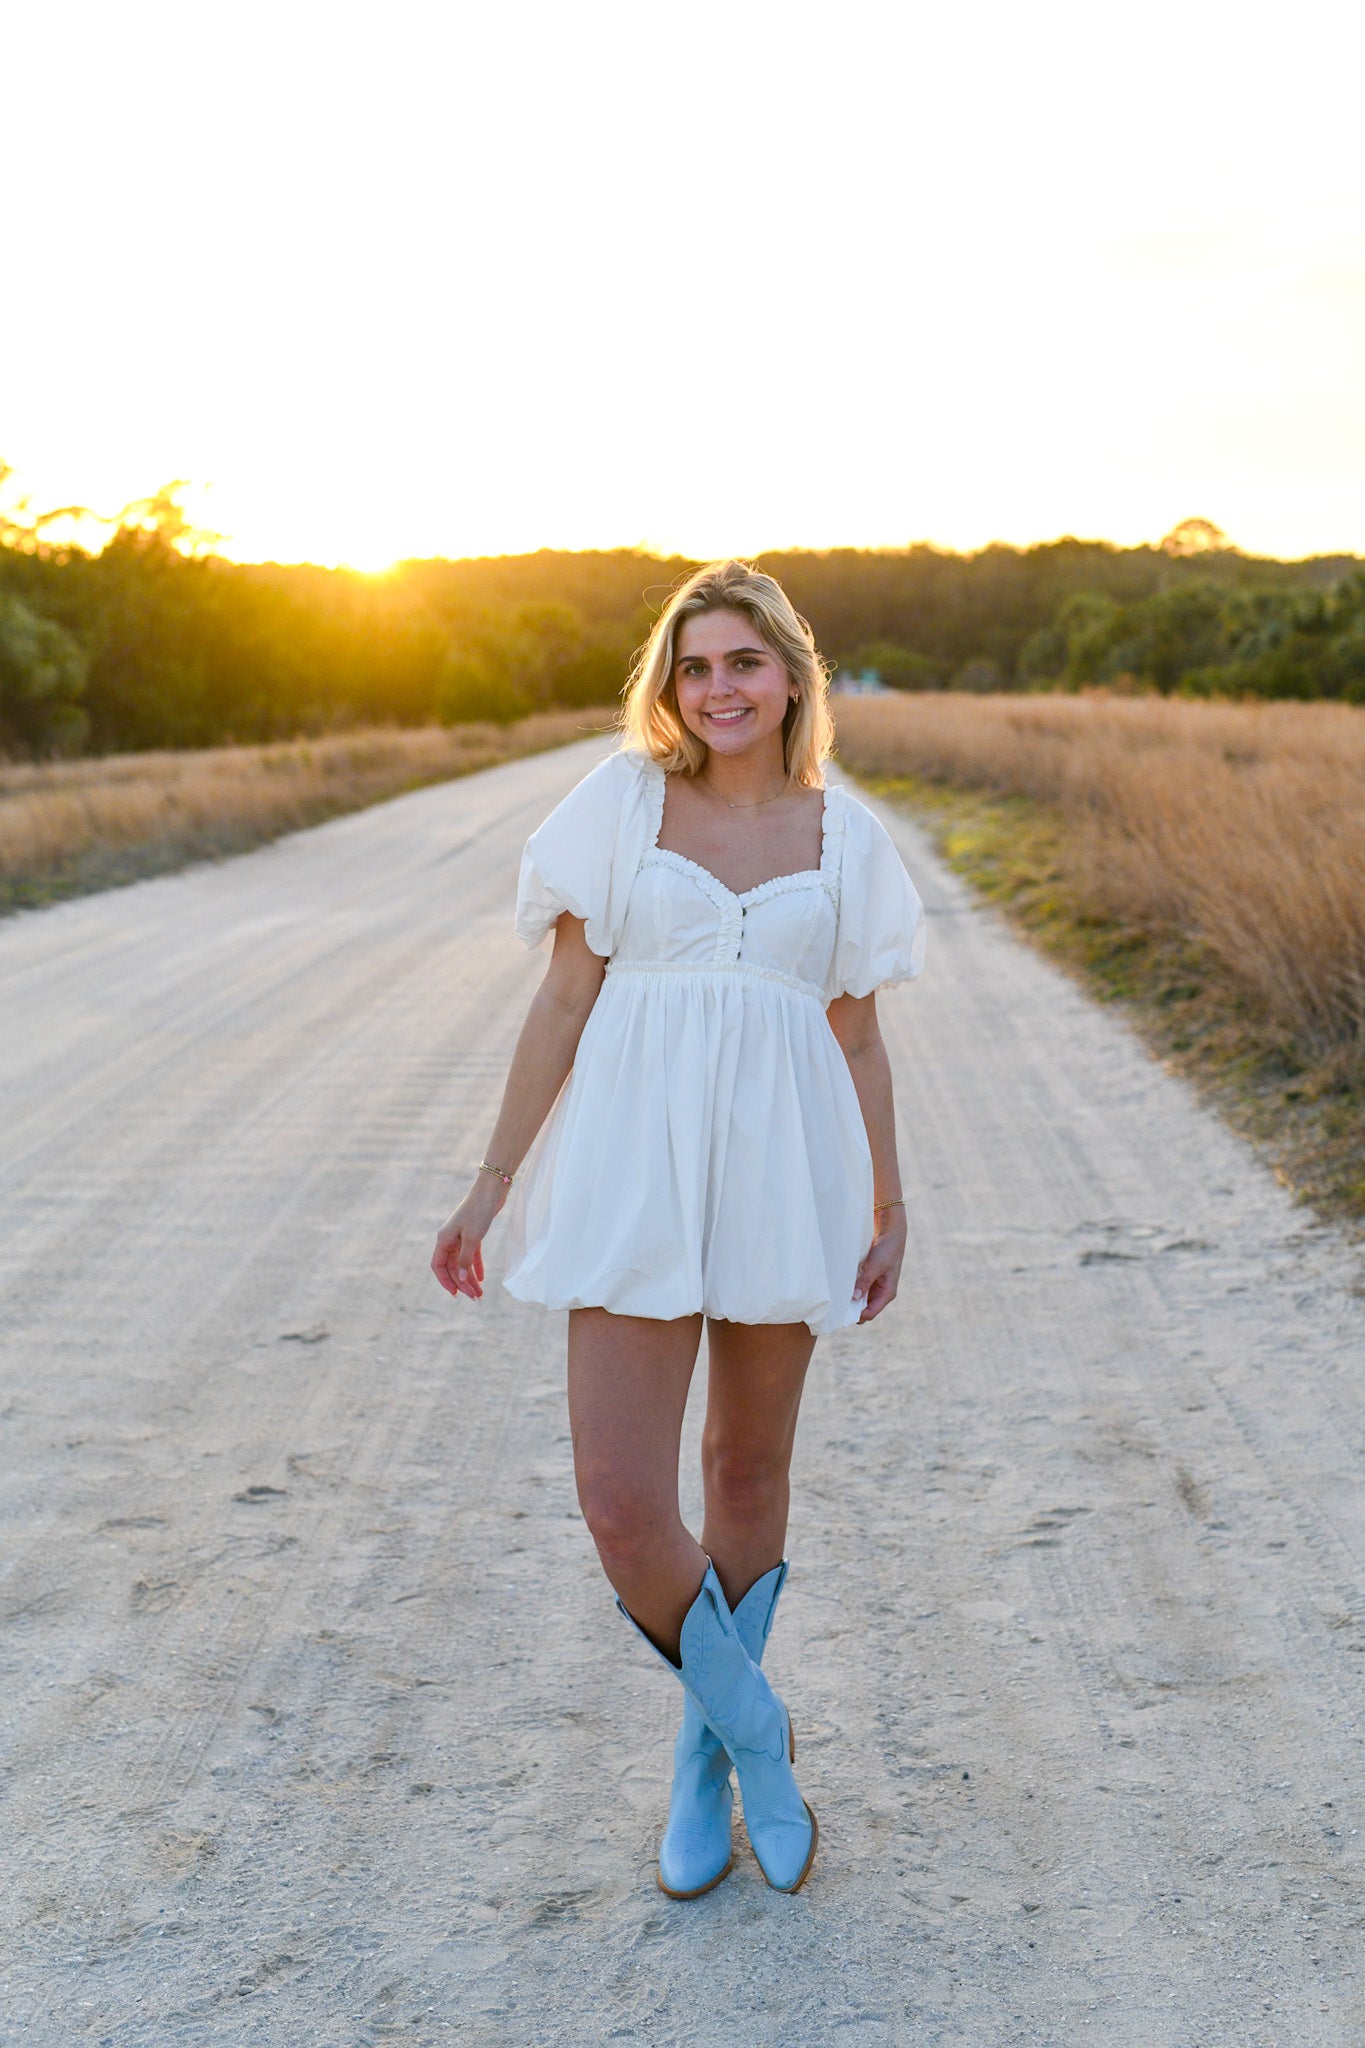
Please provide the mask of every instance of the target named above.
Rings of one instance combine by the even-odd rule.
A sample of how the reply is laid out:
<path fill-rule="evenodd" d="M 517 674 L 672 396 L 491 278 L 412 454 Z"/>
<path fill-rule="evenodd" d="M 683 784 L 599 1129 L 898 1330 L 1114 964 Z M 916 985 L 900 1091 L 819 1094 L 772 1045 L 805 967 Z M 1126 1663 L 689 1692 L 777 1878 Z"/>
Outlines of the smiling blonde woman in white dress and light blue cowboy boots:
<path fill-rule="evenodd" d="M 622 739 L 526 844 L 516 928 L 555 950 L 432 1268 L 481 1296 L 516 1180 L 503 1284 L 569 1311 L 583 1518 L 684 1683 L 659 1886 L 696 1898 L 731 1870 L 735 1765 L 759 1868 L 792 1892 L 817 1823 L 763 1645 L 814 1339 L 870 1323 L 900 1274 L 874 991 L 919 973 L 923 913 L 882 825 L 825 786 L 825 666 L 769 575 L 726 561 L 675 590 Z M 702 1317 L 698 1542 L 677 1458 Z"/>

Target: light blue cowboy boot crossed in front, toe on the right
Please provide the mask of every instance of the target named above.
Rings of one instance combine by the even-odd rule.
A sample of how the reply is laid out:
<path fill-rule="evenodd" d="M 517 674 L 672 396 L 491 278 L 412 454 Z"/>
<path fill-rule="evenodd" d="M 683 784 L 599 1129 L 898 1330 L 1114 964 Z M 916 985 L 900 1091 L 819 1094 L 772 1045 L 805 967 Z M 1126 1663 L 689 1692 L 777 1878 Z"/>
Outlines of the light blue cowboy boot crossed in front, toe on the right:
<path fill-rule="evenodd" d="M 776 1892 L 794 1892 L 814 1862 L 819 1829 L 792 1774 L 786 1706 L 739 1640 L 714 1565 L 706 1565 L 684 1618 L 681 1665 L 649 1640 L 620 1599 L 616 1606 L 659 1663 L 681 1679 L 702 1720 L 729 1749 L 759 1870 Z"/>

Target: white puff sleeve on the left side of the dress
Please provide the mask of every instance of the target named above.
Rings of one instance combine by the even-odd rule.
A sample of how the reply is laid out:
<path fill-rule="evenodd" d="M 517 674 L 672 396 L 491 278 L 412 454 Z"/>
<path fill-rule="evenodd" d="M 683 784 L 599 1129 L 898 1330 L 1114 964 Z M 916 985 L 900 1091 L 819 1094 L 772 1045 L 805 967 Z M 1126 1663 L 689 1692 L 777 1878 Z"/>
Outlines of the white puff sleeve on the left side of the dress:
<path fill-rule="evenodd" d="M 608 754 L 526 842 L 516 891 L 518 938 L 538 946 L 559 915 L 571 911 L 583 920 L 589 948 L 610 958 L 649 825 L 645 760 L 626 750 Z"/>

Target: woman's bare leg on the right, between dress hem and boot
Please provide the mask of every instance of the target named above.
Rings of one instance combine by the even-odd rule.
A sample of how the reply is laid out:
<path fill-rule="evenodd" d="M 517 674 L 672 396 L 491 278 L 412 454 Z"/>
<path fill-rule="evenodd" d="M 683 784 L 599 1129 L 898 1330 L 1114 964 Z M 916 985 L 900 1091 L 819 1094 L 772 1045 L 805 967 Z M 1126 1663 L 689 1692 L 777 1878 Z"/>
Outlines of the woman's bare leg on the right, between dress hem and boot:
<path fill-rule="evenodd" d="M 796 1415 L 814 1337 L 806 1323 L 706 1325 L 710 1358 L 702 1548 L 731 1608 L 782 1563 Z"/>

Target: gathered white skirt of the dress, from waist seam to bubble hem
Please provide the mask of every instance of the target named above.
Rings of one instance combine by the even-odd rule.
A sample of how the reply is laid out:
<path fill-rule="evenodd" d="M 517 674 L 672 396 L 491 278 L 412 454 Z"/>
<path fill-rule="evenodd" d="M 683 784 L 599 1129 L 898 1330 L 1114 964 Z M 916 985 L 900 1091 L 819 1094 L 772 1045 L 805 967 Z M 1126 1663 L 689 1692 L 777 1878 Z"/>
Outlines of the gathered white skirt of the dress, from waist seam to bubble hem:
<path fill-rule="evenodd" d="M 505 1208 L 544 1309 L 857 1323 L 872 1155 L 823 993 L 737 965 L 608 967 Z"/>

